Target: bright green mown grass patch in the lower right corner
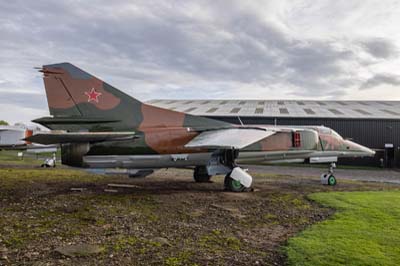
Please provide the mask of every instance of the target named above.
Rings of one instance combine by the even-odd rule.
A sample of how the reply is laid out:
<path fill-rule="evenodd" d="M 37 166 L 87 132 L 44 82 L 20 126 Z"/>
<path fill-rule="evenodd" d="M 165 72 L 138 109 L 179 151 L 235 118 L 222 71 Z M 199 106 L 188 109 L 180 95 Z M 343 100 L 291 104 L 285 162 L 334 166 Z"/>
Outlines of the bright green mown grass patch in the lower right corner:
<path fill-rule="evenodd" d="M 288 241 L 289 265 L 398 265 L 400 191 L 315 193 L 331 219 Z"/>

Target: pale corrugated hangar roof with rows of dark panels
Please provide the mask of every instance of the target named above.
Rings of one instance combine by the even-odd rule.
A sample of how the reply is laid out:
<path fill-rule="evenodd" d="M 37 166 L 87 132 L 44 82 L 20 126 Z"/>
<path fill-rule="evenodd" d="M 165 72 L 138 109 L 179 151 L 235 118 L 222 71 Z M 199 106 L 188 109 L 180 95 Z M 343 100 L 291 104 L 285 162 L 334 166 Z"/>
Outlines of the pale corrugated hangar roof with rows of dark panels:
<path fill-rule="evenodd" d="M 400 119 L 400 101 L 156 99 L 148 103 L 204 116 Z"/>

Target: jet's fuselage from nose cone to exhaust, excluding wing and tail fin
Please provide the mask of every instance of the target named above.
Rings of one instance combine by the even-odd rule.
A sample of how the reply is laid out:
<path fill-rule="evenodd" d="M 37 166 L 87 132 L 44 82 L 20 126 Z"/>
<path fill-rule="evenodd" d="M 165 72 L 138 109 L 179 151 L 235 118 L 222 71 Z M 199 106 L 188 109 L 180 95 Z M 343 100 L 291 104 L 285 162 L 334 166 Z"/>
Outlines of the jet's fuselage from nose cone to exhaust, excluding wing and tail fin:
<path fill-rule="evenodd" d="M 266 128 L 272 128 L 270 125 Z M 278 129 L 278 128 L 277 128 Z M 276 134 L 245 147 L 237 161 L 274 162 L 370 156 L 374 152 L 344 140 L 326 127 L 280 127 Z M 138 139 L 87 146 L 82 166 L 93 168 L 163 168 L 207 165 L 212 151 L 186 148 L 198 133 L 186 128 L 147 129 Z M 298 139 L 296 139 L 298 138 Z M 322 159 L 322 161 L 324 161 Z"/>

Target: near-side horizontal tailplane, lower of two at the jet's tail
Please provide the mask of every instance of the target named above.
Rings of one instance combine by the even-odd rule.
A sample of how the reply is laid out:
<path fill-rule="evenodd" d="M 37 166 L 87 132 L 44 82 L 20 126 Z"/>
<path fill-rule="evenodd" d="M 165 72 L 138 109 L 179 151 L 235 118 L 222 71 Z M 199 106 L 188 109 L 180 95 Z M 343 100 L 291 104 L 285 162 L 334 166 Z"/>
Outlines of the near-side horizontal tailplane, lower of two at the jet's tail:
<path fill-rule="evenodd" d="M 48 145 L 58 143 L 93 143 L 134 138 L 136 138 L 135 132 L 50 132 L 35 134 L 25 140 Z"/>

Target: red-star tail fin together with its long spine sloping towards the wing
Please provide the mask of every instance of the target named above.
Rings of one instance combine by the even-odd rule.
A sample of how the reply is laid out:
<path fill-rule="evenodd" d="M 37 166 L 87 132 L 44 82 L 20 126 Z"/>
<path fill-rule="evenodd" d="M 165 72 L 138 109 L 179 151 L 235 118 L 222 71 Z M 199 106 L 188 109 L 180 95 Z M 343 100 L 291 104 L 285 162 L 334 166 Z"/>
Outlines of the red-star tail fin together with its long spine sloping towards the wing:
<path fill-rule="evenodd" d="M 70 63 L 45 65 L 40 72 L 44 74 L 47 102 L 53 117 L 34 122 L 50 129 L 124 131 L 226 125 L 144 104 Z"/>

